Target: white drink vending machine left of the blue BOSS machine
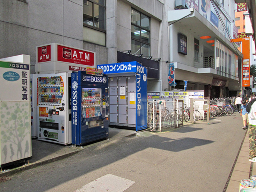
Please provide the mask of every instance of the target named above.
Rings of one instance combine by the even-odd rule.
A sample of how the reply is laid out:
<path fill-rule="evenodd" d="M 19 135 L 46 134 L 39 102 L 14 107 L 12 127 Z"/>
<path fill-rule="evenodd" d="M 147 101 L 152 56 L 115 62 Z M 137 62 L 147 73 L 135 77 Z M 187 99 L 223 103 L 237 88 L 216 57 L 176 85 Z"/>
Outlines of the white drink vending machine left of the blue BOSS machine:
<path fill-rule="evenodd" d="M 71 144 L 70 84 L 68 72 L 37 75 L 38 140 Z"/>

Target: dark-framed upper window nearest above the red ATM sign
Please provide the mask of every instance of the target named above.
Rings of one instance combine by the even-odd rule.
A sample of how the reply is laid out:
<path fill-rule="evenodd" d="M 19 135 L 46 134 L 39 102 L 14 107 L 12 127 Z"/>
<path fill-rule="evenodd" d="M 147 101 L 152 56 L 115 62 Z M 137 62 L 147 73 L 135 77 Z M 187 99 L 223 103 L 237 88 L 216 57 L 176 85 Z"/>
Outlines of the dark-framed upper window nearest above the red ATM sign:
<path fill-rule="evenodd" d="M 106 30 L 106 0 L 84 0 L 84 26 Z"/>

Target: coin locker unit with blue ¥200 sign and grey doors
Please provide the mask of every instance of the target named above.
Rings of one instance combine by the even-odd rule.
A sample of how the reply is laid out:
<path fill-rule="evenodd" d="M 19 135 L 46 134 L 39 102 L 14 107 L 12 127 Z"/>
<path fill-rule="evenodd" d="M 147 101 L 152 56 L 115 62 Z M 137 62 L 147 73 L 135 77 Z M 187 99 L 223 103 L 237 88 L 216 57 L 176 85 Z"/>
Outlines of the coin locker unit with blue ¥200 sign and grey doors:
<path fill-rule="evenodd" d="M 98 65 L 108 74 L 109 125 L 147 128 L 147 70 L 136 61 Z"/>

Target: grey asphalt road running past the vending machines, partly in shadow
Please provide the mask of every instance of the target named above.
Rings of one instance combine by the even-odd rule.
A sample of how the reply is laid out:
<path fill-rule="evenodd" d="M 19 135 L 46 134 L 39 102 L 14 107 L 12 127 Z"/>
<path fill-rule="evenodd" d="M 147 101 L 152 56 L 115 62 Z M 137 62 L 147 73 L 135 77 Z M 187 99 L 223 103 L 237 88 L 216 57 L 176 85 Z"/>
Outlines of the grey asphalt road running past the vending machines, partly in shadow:
<path fill-rule="evenodd" d="M 99 142 L 14 174 L 0 191 L 222 192 L 245 130 L 237 112 L 211 122 Z"/>

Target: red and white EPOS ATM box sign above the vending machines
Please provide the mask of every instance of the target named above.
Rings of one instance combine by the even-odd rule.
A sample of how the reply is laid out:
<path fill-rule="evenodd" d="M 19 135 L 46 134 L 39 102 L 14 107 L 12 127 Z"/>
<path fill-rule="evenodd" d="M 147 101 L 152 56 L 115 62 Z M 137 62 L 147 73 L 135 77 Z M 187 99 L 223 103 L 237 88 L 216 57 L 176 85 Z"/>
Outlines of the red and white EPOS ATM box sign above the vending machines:
<path fill-rule="evenodd" d="M 95 67 L 95 52 L 51 43 L 36 47 L 35 72 L 39 74 L 86 71 Z"/>

